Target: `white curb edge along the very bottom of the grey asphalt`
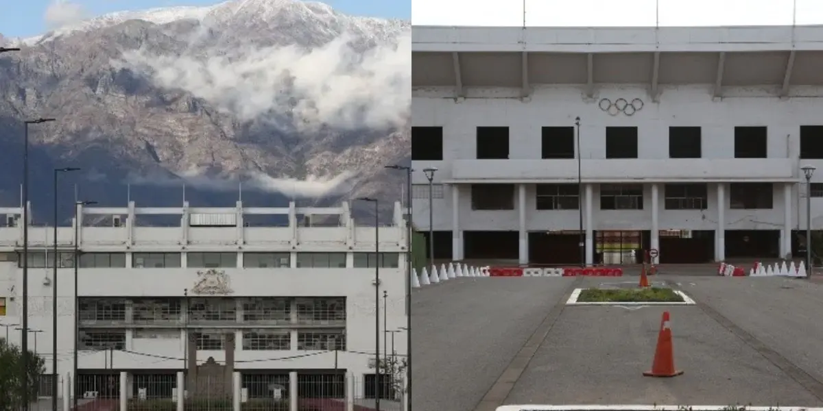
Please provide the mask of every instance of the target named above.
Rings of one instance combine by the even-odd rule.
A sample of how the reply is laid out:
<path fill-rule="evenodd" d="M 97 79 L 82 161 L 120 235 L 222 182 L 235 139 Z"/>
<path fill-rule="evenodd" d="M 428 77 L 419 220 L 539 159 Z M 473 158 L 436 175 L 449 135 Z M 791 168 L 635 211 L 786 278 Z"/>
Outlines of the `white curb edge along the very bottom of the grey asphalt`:
<path fill-rule="evenodd" d="M 748 405 L 503 405 L 496 411 L 823 411 L 820 407 L 750 407 Z"/>

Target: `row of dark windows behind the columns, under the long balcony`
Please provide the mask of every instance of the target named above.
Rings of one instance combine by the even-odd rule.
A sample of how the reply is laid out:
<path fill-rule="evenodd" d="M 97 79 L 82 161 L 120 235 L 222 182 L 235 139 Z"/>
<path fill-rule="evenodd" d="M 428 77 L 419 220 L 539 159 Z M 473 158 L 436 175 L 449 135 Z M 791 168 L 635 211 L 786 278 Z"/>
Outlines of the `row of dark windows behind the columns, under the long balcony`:
<path fill-rule="evenodd" d="M 537 184 L 537 210 L 579 210 L 580 187 L 577 184 Z M 732 210 L 771 209 L 774 186 L 768 182 L 732 182 L 729 184 L 729 208 Z M 472 210 L 514 210 L 514 184 L 472 184 Z M 823 184 L 811 185 L 811 196 L 823 197 Z M 665 210 L 705 210 L 709 205 L 709 187 L 705 183 L 665 184 Z M 601 184 L 600 210 L 643 210 L 642 184 Z"/>

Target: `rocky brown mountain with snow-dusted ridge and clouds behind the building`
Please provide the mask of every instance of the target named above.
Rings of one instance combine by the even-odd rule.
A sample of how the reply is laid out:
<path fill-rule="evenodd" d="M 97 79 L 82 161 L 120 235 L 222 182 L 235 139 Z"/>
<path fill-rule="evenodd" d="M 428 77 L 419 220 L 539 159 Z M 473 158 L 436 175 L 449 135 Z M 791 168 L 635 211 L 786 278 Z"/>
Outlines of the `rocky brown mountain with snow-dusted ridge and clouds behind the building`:
<path fill-rule="evenodd" d="M 248 205 L 376 196 L 388 212 L 400 197 L 405 176 L 384 165 L 410 164 L 407 21 L 232 0 L 0 44 L 22 48 L 0 56 L 2 205 L 19 203 L 22 122 L 57 119 L 30 126 L 41 222 L 58 167 L 82 169 L 61 175 L 67 216 L 72 183 L 100 205 L 179 205 L 184 191 L 192 205 L 232 205 L 242 187 Z"/>

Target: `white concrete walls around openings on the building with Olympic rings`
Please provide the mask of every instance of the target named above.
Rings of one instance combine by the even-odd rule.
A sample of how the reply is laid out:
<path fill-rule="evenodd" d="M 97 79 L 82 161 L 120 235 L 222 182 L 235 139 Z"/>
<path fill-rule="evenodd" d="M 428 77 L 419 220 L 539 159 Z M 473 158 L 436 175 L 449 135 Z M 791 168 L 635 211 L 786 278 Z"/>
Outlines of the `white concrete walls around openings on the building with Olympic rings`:
<path fill-rule="evenodd" d="M 528 262 L 530 231 L 576 230 L 578 210 L 536 210 L 535 184 L 576 183 L 584 196 L 586 261 L 593 230 L 715 231 L 779 229 L 780 254 L 791 252 L 792 229 L 805 229 L 800 127 L 823 124 L 823 27 L 737 28 L 480 28 L 415 27 L 412 39 L 412 126 L 443 127 L 436 167 L 444 195 L 433 200 L 434 229 L 453 232 L 453 259 L 463 259 L 463 232 L 518 231 L 519 261 Z M 633 115 L 611 115 L 602 99 L 631 102 Z M 542 159 L 541 128 L 573 127 L 574 159 Z M 509 159 L 477 159 L 477 127 L 509 127 Z M 701 127 L 700 159 L 669 159 L 668 128 Z M 734 127 L 767 127 L 764 159 L 736 159 Z M 606 127 L 637 127 L 637 159 L 606 159 Z M 708 185 L 704 210 L 664 210 L 671 182 Z M 729 184 L 769 182 L 773 207 L 733 210 Z M 823 182 L 823 170 L 812 182 Z M 426 184 L 416 173 L 414 184 Z M 516 186 L 514 210 L 472 210 L 471 184 Z M 640 183 L 643 210 L 600 210 L 603 183 Z M 429 228 L 429 204 L 416 197 L 413 220 Z M 823 201 L 812 198 L 812 225 Z"/>

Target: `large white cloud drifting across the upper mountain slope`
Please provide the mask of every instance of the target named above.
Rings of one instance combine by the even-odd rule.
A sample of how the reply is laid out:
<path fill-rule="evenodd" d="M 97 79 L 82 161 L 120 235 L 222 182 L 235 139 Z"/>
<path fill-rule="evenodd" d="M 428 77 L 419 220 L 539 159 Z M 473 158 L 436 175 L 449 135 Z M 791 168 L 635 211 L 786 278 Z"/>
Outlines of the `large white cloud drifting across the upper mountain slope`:
<path fill-rule="evenodd" d="M 123 53 L 120 65 L 146 74 L 162 88 L 185 90 L 244 121 L 285 116 L 301 130 L 384 129 L 404 124 L 412 101 L 411 33 L 365 53 L 352 47 L 352 39 L 343 35 L 312 50 L 241 49 L 202 58 L 142 49 Z"/>

